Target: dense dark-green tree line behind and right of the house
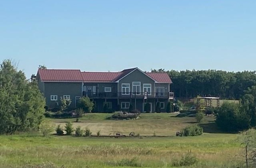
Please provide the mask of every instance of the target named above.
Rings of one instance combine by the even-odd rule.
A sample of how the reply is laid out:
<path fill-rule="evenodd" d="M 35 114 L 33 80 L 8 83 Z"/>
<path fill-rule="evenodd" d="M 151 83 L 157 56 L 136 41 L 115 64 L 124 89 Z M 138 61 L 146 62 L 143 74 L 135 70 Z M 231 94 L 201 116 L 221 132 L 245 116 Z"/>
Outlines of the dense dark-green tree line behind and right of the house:
<path fill-rule="evenodd" d="M 218 96 L 223 99 L 240 99 L 244 91 L 256 85 L 256 71 L 227 72 L 223 70 L 164 70 L 173 81 L 171 91 L 176 97 Z"/>

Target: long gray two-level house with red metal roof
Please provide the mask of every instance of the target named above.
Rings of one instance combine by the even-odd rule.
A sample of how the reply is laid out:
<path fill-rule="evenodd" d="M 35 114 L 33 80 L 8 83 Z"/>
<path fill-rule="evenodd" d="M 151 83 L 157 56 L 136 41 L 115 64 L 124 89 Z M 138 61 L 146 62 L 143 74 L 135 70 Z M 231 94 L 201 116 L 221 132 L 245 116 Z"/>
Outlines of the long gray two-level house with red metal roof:
<path fill-rule="evenodd" d="M 110 111 L 128 111 L 132 104 L 144 112 L 145 103 L 154 112 L 158 101 L 161 112 L 166 112 L 167 103 L 174 97 L 167 73 L 143 72 L 137 67 L 121 72 L 39 69 L 36 79 L 49 108 L 55 107 L 61 98 L 71 99 L 70 106 L 76 107 L 79 99 L 86 96 L 98 112 L 103 111 L 105 104 Z"/>

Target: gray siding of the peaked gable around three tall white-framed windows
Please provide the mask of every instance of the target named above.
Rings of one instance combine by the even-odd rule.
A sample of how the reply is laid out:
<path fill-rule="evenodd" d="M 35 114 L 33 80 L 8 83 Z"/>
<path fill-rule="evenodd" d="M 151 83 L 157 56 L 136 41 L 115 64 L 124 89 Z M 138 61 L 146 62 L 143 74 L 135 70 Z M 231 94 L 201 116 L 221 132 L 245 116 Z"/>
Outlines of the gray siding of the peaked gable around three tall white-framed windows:
<path fill-rule="evenodd" d="M 153 92 L 153 93 L 155 92 L 155 88 L 154 88 L 155 81 L 139 70 L 135 70 L 132 73 L 130 73 L 129 75 L 125 76 L 123 79 L 121 79 L 118 84 L 118 91 L 122 92 L 122 83 L 129 83 L 130 84 L 130 92 L 133 92 L 133 82 L 141 82 L 141 85 L 140 85 L 141 86 L 140 87 L 141 95 L 136 95 L 138 97 L 144 96 L 143 84 L 151 84 L 151 92 Z M 121 96 L 125 97 L 123 95 L 121 95 Z M 148 97 L 150 97 L 150 96 L 148 96 Z"/>

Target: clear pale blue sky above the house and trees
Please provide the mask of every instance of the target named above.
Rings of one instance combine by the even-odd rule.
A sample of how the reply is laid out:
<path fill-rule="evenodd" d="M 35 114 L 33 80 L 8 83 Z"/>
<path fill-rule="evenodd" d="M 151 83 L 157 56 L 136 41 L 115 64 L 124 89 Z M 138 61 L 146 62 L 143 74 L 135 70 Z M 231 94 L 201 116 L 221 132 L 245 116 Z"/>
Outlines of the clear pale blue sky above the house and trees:
<path fill-rule="evenodd" d="M 256 70 L 256 1 L 0 1 L 0 60 L 48 69 Z"/>

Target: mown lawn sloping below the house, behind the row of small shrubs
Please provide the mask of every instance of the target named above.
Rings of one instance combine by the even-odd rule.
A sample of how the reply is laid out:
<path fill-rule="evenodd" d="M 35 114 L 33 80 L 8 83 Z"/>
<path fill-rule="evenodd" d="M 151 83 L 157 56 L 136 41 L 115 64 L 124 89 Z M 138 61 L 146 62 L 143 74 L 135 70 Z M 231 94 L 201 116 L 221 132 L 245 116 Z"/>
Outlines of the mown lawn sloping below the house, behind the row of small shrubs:
<path fill-rule="evenodd" d="M 175 135 L 177 131 L 187 125 L 196 124 L 194 117 L 177 118 L 175 114 L 170 113 L 142 113 L 141 118 L 136 120 L 106 120 L 106 117 L 110 115 L 105 113 L 86 114 L 80 122 L 75 122 L 76 119 L 51 119 L 51 121 L 55 125 L 60 124 L 63 128 L 66 122 L 73 122 L 74 127 L 89 128 L 93 135 L 100 130 L 102 135 L 113 135 L 115 131 L 119 131 L 124 135 L 134 132 L 142 136 L 152 136 L 154 133 L 157 136 L 170 136 Z M 207 132 L 219 133 L 213 124 L 214 120 L 214 117 L 206 116 L 201 125 Z"/>

